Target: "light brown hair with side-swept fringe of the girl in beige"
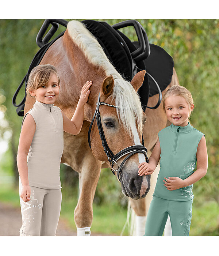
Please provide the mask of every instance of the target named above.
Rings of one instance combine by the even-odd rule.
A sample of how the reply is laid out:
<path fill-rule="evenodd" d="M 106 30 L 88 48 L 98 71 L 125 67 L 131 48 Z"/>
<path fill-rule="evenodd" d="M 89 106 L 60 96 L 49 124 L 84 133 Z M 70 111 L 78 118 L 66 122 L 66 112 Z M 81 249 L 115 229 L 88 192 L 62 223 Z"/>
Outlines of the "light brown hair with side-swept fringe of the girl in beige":
<path fill-rule="evenodd" d="M 38 65 L 37 67 L 33 68 L 27 82 L 26 93 L 29 93 L 29 90 L 37 90 L 39 87 L 46 85 L 52 75 L 57 76 L 59 86 L 60 79 L 57 74 L 57 70 L 53 65 Z"/>

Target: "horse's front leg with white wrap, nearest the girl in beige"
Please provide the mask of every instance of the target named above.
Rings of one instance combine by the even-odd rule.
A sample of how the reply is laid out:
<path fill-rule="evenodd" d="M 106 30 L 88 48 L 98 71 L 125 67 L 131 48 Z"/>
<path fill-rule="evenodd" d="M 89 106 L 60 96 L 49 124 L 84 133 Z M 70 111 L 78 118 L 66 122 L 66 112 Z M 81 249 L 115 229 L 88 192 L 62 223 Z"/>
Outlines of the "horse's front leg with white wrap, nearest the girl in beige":
<path fill-rule="evenodd" d="M 93 198 L 100 177 L 101 162 L 95 158 L 87 158 L 79 173 L 80 195 L 74 209 L 74 222 L 77 236 L 90 236 L 93 221 Z"/>

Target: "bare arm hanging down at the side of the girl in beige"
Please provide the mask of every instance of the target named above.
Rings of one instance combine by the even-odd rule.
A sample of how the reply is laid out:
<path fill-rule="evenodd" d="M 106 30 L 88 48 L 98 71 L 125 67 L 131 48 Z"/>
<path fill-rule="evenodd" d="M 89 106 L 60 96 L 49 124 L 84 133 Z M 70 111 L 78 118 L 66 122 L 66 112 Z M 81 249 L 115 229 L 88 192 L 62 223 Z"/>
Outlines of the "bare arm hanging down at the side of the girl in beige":
<path fill-rule="evenodd" d="M 20 197 L 24 200 L 24 202 L 30 201 L 31 191 L 27 172 L 27 154 L 29 152 L 35 131 L 36 124 L 34 118 L 31 116 L 31 114 L 27 114 L 20 133 L 17 155 L 18 172 L 23 187 Z"/>

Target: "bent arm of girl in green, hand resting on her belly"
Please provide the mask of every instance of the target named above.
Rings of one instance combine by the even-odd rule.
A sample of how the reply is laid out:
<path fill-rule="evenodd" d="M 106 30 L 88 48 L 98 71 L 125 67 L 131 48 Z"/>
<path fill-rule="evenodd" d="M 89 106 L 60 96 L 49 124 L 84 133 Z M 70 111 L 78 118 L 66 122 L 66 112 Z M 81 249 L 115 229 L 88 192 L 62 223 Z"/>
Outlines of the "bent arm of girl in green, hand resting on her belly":
<path fill-rule="evenodd" d="M 197 170 L 185 180 L 179 177 L 165 178 L 164 185 L 168 190 L 188 187 L 205 176 L 208 169 L 208 153 L 205 136 L 203 135 L 197 147 Z"/>

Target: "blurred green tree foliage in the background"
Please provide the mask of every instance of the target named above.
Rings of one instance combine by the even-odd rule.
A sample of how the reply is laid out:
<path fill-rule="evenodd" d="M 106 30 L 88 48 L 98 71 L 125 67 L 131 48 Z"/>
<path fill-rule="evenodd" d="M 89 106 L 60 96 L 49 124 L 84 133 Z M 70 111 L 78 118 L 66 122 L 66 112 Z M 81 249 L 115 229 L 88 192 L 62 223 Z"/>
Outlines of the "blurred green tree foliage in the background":
<path fill-rule="evenodd" d="M 11 103 L 19 83 L 39 50 L 35 39 L 44 20 L 0 20 L 0 181 L 14 177 L 18 185 L 16 154 L 22 117 Z M 106 21 L 110 25 L 122 20 Z M 219 20 L 138 20 L 147 32 L 149 42 L 161 46 L 174 59 L 180 84 L 191 91 L 195 109 L 191 124 L 205 133 L 208 149 L 208 172 L 194 184 L 196 202 L 214 199 L 219 203 Z M 55 36 L 64 31 L 61 25 Z M 131 41 L 137 41 L 132 27 L 121 29 Z M 54 37 L 53 37 L 54 38 Z M 24 86 L 16 103 L 24 97 Z M 146 146 L 147 147 L 147 146 Z M 78 193 L 78 174 L 61 165 L 61 180 L 69 194 Z M 73 189 L 73 191 L 72 191 Z M 127 199 L 118 193 L 120 184 L 110 170 L 101 171 L 94 202 L 119 202 Z"/>

